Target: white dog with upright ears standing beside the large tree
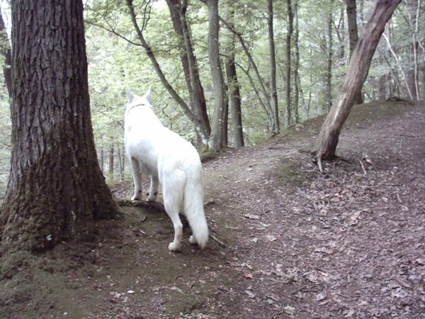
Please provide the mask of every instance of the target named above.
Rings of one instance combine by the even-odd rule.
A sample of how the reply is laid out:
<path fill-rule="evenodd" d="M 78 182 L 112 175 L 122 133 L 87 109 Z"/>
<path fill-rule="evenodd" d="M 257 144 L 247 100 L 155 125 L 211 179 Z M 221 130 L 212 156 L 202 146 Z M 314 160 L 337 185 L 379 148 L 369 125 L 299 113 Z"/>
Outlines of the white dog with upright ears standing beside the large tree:
<path fill-rule="evenodd" d="M 127 90 L 125 110 L 125 150 L 132 167 L 135 195 L 142 200 L 142 174 L 150 175 L 148 201 L 155 201 L 159 183 L 162 186 L 164 207 L 174 224 L 174 241 L 169 250 L 181 248 L 183 225 L 179 212 L 191 225 L 191 244 L 202 249 L 208 241 L 208 225 L 203 209 L 202 164 L 195 147 L 164 127 L 154 113 L 150 88 L 145 96 Z"/>

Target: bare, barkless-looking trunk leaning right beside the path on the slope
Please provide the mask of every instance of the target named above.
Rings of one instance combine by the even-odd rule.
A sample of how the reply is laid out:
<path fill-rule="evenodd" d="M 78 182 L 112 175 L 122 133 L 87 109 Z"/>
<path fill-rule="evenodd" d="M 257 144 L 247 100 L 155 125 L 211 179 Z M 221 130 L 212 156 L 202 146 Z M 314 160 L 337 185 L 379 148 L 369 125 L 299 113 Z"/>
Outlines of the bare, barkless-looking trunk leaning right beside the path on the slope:
<path fill-rule="evenodd" d="M 351 111 L 355 94 L 361 89 L 368 76 L 370 61 L 385 29 L 385 24 L 400 2 L 401 0 L 379 0 L 361 37 L 358 39 L 348 65 L 347 75 L 335 98 L 331 111 L 322 125 L 319 138 L 311 150 L 312 154 L 315 154 L 318 159 L 320 169 L 322 169 L 322 159 L 335 157 L 339 133 Z"/>

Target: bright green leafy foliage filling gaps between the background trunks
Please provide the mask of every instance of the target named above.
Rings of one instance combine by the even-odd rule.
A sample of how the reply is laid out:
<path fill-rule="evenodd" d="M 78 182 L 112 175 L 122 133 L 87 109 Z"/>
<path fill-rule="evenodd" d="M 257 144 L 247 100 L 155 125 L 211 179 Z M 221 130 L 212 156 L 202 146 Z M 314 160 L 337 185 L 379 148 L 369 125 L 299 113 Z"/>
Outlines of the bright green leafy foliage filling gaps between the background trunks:
<path fill-rule="evenodd" d="M 240 94 L 242 98 L 242 118 L 246 145 L 256 144 L 270 135 L 269 118 L 261 102 L 267 101 L 270 82 L 270 52 L 267 32 L 267 3 L 254 0 L 223 0 L 220 1 L 220 16 L 226 16 L 227 1 L 234 5 L 234 30 L 244 41 L 249 55 L 252 56 L 259 69 L 260 79 L 254 74 L 254 65 L 249 62 L 242 48 L 236 43 L 236 63 Z M 146 55 L 145 48 L 140 45 L 137 33 L 124 0 L 96 0 L 85 3 L 86 18 L 86 46 L 89 58 L 89 86 L 91 94 L 91 116 L 93 118 L 96 147 L 103 151 L 103 169 L 108 171 L 109 150 L 113 147 L 115 157 L 123 156 L 123 115 L 125 111 L 125 88 L 128 87 L 136 94 L 145 94 L 152 86 L 152 100 L 157 116 L 162 123 L 184 138 L 196 142 L 196 133 L 193 124 L 181 110 L 174 99 L 171 99 L 159 77 L 154 72 L 152 62 Z M 174 32 L 169 8 L 165 1 L 132 1 L 137 14 L 137 22 L 149 47 L 159 62 L 169 84 L 187 103 L 190 100 L 188 88 L 183 74 L 179 47 L 180 38 Z M 332 55 L 332 95 L 335 96 L 342 79 L 346 74 L 349 61 L 348 30 L 346 30 L 346 14 L 344 1 L 292 1 L 297 4 L 297 18 L 299 23 L 300 51 L 300 99 L 298 108 L 300 119 L 303 121 L 323 112 L 325 75 L 327 72 L 327 50 L 325 35 L 326 16 L 331 14 L 334 19 Z M 375 1 L 362 1 L 363 7 L 358 4 L 358 28 L 367 22 L 368 16 L 375 6 Z M 421 4 L 424 7 L 424 4 Z M 422 8 L 423 11 L 424 8 Z M 285 78 L 287 62 L 285 59 L 285 38 L 288 25 L 288 13 L 285 1 L 273 1 L 274 13 L 274 40 L 277 60 L 277 88 L 278 103 L 283 111 L 285 105 Z M 415 8 L 410 4 L 399 6 L 391 21 L 388 35 L 395 52 L 399 55 L 401 65 L 397 65 L 395 57 L 388 50 L 388 45 L 381 39 L 378 52 L 375 54 L 369 77 L 363 87 L 366 98 L 376 97 L 378 80 L 380 77 L 391 75 L 390 86 L 400 86 L 402 91 L 404 82 L 400 69 L 409 72 L 414 67 L 412 61 L 412 16 Z M 188 1 L 187 21 L 191 29 L 191 40 L 195 50 L 200 79 L 205 91 L 205 99 L 209 112 L 214 103 L 212 94 L 212 79 L 208 64 L 207 35 L 208 14 L 202 1 Z M 345 21 L 345 25 L 341 24 Z M 424 18 L 420 17 L 419 38 L 424 39 Z M 337 31 L 339 32 L 337 36 Z M 220 50 L 222 57 L 226 57 L 226 43 L 231 33 L 225 24 L 221 23 Z M 294 40 L 293 40 L 294 41 Z M 423 45 L 423 43 L 421 43 Z M 292 47 L 295 46 L 293 42 Z M 423 60 L 423 53 L 421 53 Z M 294 57 L 292 58 L 294 63 Z M 292 65 L 292 68 L 294 65 Z M 293 87 L 294 80 L 290 79 Z M 261 92 L 261 82 L 266 86 L 267 94 Z M 395 84 L 397 83 L 397 85 Z M 423 84 L 422 84 L 423 87 Z M 259 92 L 257 94 L 256 92 Z M 292 94 L 295 94 L 293 91 Z M 422 92 L 423 94 L 423 92 Z M 294 97 L 294 96 L 293 96 Z M 2 95 L 1 103 L 1 133 L 9 136 L 10 122 L 8 121 L 8 100 Z M 367 99 L 366 99 L 367 101 Z M 282 118 L 281 114 L 281 117 Z M 231 120 L 231 119 L 230 119 Z M 4 138 L 1 152 L 8 152 L 9 138 Z M 6 158 L 6 155 L 2 159 Z M 6 159 L 8 162 L 8 159 Z M 124 175 L 115 159 L 114 173 L 111 179 L 128 178 L 128 169 Z M 6 164 L 0 163 L 3 167 Z M 7 169 L 2 167 L 2 172 Z M 128 164 L 125 164 L 128 167 Z M 5 176 L 8 172 L 5 173 Z"/>

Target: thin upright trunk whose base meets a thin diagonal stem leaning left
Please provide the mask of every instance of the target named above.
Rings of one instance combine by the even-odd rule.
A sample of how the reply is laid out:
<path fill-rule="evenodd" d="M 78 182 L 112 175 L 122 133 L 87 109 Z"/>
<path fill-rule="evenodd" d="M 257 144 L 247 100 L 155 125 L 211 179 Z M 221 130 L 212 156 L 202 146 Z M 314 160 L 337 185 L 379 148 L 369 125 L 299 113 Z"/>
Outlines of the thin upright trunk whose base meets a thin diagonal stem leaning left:
<path fill-rule="evenodd" d="M 272 130 L 273 135 L 277 135 L 280 130 L 279 125 L 279 106 L 278 90 L 276 89 L 276 50 L 273 31 L 273 0 L 267 0 L 267 25 L 268 25 L 268 50 L 270 51 L 270 99 L 271 109 L 273 111 L 275 127 Z"/>

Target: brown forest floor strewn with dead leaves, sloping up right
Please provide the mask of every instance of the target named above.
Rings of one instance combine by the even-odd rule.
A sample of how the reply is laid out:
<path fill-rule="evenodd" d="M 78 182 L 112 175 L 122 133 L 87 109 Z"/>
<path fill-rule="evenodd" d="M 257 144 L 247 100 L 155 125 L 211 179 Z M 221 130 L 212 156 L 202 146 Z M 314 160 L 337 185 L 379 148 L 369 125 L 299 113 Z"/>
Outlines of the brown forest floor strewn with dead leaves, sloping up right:
<path fill-rule="evenodd" d="M 127 205 L 96 244 L 0 259 L 0 318 L 424 319 L 425 103 L 355 106 L 323 174 L 297 151 L 322 122 L 204 162 L 204 250 Z"/>

